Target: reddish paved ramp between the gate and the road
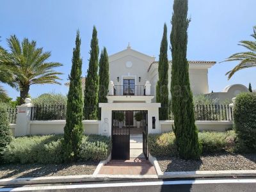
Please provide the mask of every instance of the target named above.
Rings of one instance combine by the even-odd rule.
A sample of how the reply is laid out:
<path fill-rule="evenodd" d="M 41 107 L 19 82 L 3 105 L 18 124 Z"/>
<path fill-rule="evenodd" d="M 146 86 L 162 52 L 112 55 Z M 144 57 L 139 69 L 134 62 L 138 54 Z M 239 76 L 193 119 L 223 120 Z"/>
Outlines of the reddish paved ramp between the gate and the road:
<path fill-rule="evenodd" d="M 156 170 L 145 158 L 112 160 L 102 166 L 99 174 L 106 175 L 156 175 Z"/>

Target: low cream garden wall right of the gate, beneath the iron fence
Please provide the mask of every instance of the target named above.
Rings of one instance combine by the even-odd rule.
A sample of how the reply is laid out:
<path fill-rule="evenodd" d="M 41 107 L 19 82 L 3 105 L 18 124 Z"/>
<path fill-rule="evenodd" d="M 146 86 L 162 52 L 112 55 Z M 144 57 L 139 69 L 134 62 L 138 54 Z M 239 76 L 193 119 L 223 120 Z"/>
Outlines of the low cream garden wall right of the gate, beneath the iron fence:
<path fill-rule="evenodd" d="M 162 120 L 159 121 L 159 126 L 161 132 L 170 132 L 172 131 L 172 125 L 174 125 L 173 120 Z M 232 129 L 232 121 L 196 121 L 196 126 L 199 131 L 219 131 L 225 132 Z"/>

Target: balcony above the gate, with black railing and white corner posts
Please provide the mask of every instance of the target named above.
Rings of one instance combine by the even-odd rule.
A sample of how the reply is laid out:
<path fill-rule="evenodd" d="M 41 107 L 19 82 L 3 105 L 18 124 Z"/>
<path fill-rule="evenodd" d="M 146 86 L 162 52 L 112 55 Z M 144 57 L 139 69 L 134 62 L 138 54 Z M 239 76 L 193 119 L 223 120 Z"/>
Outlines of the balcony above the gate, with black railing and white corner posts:
<path fill-rule="evenodd" d="M 149 81 L 146 81 L 145 85 L 115 85 L 110 81 L 108 102 L 151 102 L 154 96 L 150 93 L 150 86 Z"/>

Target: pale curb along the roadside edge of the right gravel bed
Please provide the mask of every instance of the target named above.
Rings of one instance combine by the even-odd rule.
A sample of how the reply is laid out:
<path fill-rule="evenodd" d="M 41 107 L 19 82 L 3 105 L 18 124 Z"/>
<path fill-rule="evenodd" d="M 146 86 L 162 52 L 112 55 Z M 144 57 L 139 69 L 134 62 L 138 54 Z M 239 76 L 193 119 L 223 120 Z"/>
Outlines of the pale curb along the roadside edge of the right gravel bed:
<path fill-rule="evenodd" d="M 159 179 L 198 178 L 198 177 L 256 177 L 256 170 L 225 170 L 195 172 L 164 172 Z"/>

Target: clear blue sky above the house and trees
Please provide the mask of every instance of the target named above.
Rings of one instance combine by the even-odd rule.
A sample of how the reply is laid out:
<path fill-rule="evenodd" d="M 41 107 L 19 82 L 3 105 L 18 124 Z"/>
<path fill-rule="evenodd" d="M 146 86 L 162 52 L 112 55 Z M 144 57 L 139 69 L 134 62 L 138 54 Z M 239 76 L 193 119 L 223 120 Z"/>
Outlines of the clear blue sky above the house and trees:
<path fill-rule="evenodd" d="M 83 76 L 86 75 L 92 38 L 96 26 L 99 47 L 108 54 L 132 49 L 159 57 L 164 22 L 168 28 L 168 44 L 173 0 L 0 0 L 0 45 L 8 49 L 6 38 L 17 35 L 22 40 L 36 40 L 38 47 L 51 51 L 48 61 L 63 63 L 62 85 L 33 85 L 31 97 L 42 93 L 68 92 L 66 83 L 70 73 L 72 49 L 76 31 L 81 34 Z M 225 73 L 237 62 L 225 62 L 231 54 L 246 51 L 237 45 L 241 40 L 253 40 L 256 25 L 255 0 L 189 0 L 188 60 L 216 61 L 209 69 L 209 92 L 221 92 L 229 84 L 252 83 L 256 89 L 256 68 L 237 72 L 229 81 Z M 168 50 L 171 60 L 171 52 Z M 15 99 L 19 92 L 4 85 L 8 95 Z"/>

